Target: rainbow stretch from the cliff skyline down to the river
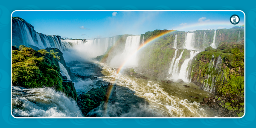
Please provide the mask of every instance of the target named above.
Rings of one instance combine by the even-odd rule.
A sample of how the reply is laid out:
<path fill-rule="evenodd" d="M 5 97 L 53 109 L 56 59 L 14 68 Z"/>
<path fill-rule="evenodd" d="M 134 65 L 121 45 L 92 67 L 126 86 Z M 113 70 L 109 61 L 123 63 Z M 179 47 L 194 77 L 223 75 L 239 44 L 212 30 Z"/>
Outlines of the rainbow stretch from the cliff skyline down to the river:
<path fill-rule="evenodd" d="M 157 40 L 158 38 L 164 36 L 164 35 L 167 35 L 169 33 L 172 33 L 172 32 L 175 32 L 176 30 L 169 30 L 169 31 L 166 31 L 166 32 L 163 32 L 163 33 L 160 33 L 150 39 L 148 39 L 147 41 L 144 42 L 144 44 L 141 44 L 140 47 L 138 47 L 138 49 L 133 52 L 130 56 L 128 56 L 128 58 L 122 63 L 122 65 L 119 67 L 119 69 L 117 70 L 116 73 L 119 73 L 122 68 L 125 66 L 125 64 L 132 58 L 133 55 L 135 55 L 140 49 L 142 49 L 143 47 L 145 47 L 147 44 L 150 44 L 151 42 Z"/>

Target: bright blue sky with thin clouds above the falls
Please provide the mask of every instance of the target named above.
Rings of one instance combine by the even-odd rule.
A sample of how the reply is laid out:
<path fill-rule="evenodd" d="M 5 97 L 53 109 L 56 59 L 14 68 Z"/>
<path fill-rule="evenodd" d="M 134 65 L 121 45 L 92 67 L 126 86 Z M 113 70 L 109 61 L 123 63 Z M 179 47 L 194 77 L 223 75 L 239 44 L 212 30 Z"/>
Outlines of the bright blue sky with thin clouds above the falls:
<path fill-rule="evenodd" d="M 25 12 L 17 11 L 13 17 L 21 17 L 34 26 L 36 32 L 60 35 L 62 38 L 93 39 L 114 35 L 140 35 L 155 29 L 193 31 L 202 29 L 231 28 L 231 15 L 242 12 Z"/>

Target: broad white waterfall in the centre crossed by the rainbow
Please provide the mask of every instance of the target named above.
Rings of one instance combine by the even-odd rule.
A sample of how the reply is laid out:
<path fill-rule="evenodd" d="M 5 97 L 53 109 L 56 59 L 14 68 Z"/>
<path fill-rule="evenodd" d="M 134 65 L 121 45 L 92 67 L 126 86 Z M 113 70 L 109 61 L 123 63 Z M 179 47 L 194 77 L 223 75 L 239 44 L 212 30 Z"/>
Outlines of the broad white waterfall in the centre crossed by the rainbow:
<path fill-rule="evenodd" d="M 110 66 L 111 67 L 119 67 L 126 59 L 129 59 L 127 63 L 125 63 L 125 67 L 137 67 L 138 58 L 137 53 L 131 56 L 134 52 L 137 51 L 140 46 L 140 35 L 132 35 L 128 36 L 125 41 L 125 49 L 120 55 L 116 55 L 111 59 Z"/>

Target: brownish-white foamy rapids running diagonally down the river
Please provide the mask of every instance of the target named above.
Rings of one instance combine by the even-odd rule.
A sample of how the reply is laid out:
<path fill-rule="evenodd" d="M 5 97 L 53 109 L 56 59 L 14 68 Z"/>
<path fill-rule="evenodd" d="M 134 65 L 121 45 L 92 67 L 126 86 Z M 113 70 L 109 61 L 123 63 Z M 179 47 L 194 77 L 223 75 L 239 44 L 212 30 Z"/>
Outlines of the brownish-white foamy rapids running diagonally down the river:
<path fill-rule="evenodd" d="M 110 75 L 101 77 L 103 80 L 116 83 L 119 86 L 128 87 L 135 92 L 136 96 L 146 99 L 149 108 L 161 116 L 181 116 L 181 117 L 205 117 L 207 113 L 200 107 L 198 102 L 190 102 L 187 99 L 179 99 L 167 93 L 158 83 L 154 81 L 144 81 L 143 79 L 131 79 L 121 73 L 111 70 L 107 64 L 96 62 L 102 65 L 102 69 L 108 71 Z"/>

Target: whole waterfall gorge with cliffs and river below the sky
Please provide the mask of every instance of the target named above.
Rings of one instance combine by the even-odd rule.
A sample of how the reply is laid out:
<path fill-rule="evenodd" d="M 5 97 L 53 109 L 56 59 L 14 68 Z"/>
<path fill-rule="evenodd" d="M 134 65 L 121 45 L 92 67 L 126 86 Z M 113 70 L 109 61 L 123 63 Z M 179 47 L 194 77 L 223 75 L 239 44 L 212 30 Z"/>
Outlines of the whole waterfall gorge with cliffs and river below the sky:
<path fill-rule="evenodd" d="M 22 18 L 12 17 L 14 116 L 230 117 L 243 113 L 242 26 L 154 30 L 87 40 L 37 33 Z"/>

